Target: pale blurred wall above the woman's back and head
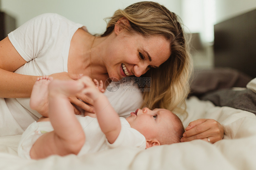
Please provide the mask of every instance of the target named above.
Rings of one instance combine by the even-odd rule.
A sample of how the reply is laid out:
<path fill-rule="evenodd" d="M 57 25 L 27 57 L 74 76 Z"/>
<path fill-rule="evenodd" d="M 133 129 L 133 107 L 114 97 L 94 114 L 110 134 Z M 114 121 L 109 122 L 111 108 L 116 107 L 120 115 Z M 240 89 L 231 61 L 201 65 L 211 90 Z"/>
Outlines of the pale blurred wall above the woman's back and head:
<path fill-rule="evenodd" d="M 106 22 L 117 9 L 124 9 L 138 0 L 2 0 L 1 10 L 12 15 L 21 26 L 27 20 L 47 12 L 58 13 L 64 17 L 85 25 L 91 34 L 105 31 Z M 181 1 L 155 1 L 180 15 Z"/>

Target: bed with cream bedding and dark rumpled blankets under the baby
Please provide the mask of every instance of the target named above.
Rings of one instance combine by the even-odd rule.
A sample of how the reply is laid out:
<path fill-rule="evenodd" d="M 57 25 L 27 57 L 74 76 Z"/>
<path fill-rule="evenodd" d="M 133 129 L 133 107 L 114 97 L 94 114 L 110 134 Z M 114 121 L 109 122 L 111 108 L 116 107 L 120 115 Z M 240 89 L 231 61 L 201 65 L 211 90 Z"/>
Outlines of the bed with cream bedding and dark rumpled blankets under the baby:
<path fill-rule="evenodd" d="M 188 117 L 179 117 L 185 127 L 199 118 L 217 120 L 224 126 L 221 141 L 210 144 L 193 140 L 146 150 L 121 147 L 81 157 L 52 155 L 36 161 L 18 157 L 21 135 L 4 136 L 0 137 L 0 169 L 256 169 L 256 79 L 235 64 L 224 65 L 228 68 L 215 64 L 215 69 L 195 71 L 186 100 Z"/>

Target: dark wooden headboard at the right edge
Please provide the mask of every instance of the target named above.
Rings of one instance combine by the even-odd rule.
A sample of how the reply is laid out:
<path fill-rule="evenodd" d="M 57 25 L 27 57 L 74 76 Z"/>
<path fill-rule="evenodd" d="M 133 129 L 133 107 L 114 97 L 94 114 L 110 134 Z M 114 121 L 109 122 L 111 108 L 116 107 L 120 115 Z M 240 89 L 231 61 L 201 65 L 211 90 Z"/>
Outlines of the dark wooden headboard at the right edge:
<path fill-rule="evenodd" d="M 256 9 L 214 26 L 214 66 L 256 77 Z"/>

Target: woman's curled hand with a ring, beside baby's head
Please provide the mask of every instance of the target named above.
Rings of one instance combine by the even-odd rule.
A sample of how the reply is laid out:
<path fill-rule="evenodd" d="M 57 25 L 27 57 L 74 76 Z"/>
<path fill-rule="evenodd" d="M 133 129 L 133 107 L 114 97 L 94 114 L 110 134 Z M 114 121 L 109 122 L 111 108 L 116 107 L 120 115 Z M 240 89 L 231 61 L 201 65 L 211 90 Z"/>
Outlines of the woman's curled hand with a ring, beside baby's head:
<path fill-rule="evenodd" d="M 215 143 L 224 136 L 223 126 L 214 119 L 198 119 L 188 124 L 180 142 L 188 142 L 194 139 L 202 139 Z M 209 141 L 210 140 L 210 141 Z"/>

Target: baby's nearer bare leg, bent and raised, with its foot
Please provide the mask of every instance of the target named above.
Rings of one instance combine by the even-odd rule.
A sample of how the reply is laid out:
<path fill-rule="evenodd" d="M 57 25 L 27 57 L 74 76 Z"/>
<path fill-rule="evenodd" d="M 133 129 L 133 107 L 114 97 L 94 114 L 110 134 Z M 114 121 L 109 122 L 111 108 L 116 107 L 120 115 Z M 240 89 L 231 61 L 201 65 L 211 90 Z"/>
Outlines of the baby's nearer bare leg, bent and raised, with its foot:
<path fill-rule="evenodd" d="M 49 155 L 78 154 L 85 142 L 85 134 L 77 120 L 68 96 L 84 88 L 79 81 L 52 80 L 49 84 L 49 118 L 54 131 L 43 134 L 30 150 L 33 159 Z"/>

